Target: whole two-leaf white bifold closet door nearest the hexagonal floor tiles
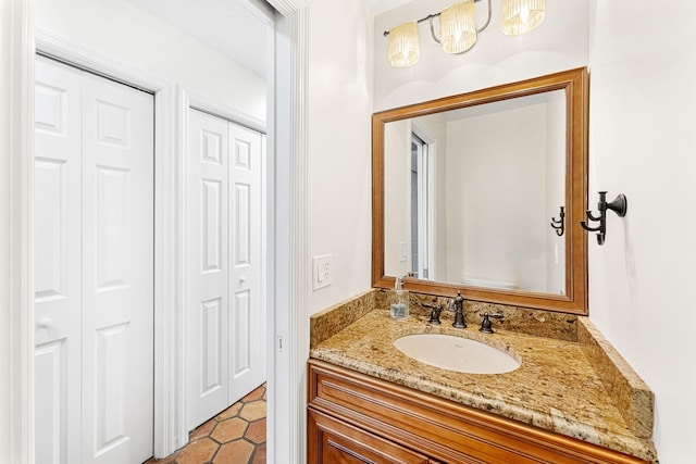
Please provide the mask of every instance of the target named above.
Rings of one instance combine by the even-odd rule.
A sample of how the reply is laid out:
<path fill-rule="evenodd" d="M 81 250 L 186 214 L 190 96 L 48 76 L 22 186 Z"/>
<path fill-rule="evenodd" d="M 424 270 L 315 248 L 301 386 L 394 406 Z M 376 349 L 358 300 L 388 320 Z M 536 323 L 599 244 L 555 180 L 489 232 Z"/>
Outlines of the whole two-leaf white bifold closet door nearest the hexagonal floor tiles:
<path fill-rule="evenodd" d="M 265 380 L 262 136 L 189 111 L 188 426 Z"/>

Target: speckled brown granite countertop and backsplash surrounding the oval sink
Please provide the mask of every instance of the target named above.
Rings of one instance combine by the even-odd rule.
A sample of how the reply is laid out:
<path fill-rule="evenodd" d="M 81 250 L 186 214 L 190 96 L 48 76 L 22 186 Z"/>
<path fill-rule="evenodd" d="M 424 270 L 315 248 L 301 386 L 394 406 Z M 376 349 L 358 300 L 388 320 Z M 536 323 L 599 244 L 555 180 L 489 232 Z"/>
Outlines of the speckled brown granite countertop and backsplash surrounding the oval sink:
<path fill-rule="evenodd" d="M 312 358 L 646 461 L 657 461 L 650 439 L 651 393 L 613 349 L 611 353 L 602 354 L 607 347 L 611 347 L 592 324 L 586 324 L 586 318 L 564 314 L 559 317 L 556 313 L 547 313 L 552 319 L 552 324 L 547 324 L 549 319 L 545 314 L 533 311 L 536 317 L 545 319 L 542 324 L 545 328 L 540 329 L 545 336 L 499 328 L 505 327 L 505 319 L 502 324 L 495 321 L 496 333 L 485 335 L 478 331 L 478 310 L 468 309 L 467 329 L 451 327 L 450 312 L 443 312 L 443 325 L 430 325 L 428 312 L 414 304 L 411 304 L 408 319 L 393 321 L 388 311 L 388 292 L 381 294 L 374 290 L 374 294 L 370 293 L 360 296 L 359 303 L 351 300 L 349 305 L 341 304 L 333 309 L 339 314 L 349 311 L 351 304 L 357 304 L 364 311 L 373 299 L 377 309 L 364 313 L 362 317 L 341 324 L 337 321 L 345 323 L 346 316 L 333 316 L 334 324 L 312 324 L 312 329 L 331 326 L 339 330 L 333 334 L 324 331 L 320 337 L 312 335 L 315 341 L 310 350 Z M 411 302 L 417 302 L 421 297 L 412 294 Z M 523 316 L 524 310 L 518 310 Z M 507 314 L 511 319 L 514 318 L 514 311 L 509 306 L 504 306 L 502 312 L 506 318 Z M 312 318 L 331 318 L 328 314 L 323 312 Z M 522 317 L 524 321 L 527 318 Z M 569 323 L 570 319 L 573 322 Z M 529 321 L 521 325 L 525 331 L 534 331 Z M 560 337 L 548 336 L 551 325 L 559 326 L 562 333 Z M 568 328 L 570 326 L 572 330 Z M 449 334 L 478 340 L 506 351 L 521 361 L 522 365 L 507 374 L 458 373 L 420 363 L 393 346 L 393 341 L 399 337 L 421 333 Z M 597 341 L 594 337 L 600 338 Z M 598 367 L 593 365 L 596 362 L 600 363 Z"/>

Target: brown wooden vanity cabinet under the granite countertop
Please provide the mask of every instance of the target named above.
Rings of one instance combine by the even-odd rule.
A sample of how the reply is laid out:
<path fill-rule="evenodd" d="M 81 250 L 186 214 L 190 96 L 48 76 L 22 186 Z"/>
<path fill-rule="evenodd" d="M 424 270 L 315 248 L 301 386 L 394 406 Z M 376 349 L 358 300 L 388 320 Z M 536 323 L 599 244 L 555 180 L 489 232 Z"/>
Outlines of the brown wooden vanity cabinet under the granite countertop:
<path fill-rule="evenodd" d="M 616 464 L 644 461 L 310 360 L 308 463 Z"/>

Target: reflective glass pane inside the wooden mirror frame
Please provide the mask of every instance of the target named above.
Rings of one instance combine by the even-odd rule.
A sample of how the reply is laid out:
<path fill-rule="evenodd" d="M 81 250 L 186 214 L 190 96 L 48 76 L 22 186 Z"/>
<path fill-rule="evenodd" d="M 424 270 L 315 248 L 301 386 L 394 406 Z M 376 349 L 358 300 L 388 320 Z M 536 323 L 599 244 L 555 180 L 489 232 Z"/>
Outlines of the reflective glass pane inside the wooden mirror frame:
<path fill-rule="evenodd" d="M 566 123 L 562 90 L 387 123 L 385 273 L 564 294 Z"/>

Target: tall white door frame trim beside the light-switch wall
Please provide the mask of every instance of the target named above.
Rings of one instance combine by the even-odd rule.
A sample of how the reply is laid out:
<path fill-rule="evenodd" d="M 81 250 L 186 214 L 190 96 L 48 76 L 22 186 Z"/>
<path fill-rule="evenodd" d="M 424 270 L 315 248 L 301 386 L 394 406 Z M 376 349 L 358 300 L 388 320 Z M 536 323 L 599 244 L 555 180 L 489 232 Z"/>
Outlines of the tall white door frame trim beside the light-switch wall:
<path fill-rule="evenodd" d="M 269 90 L 268 462 L 307 462 L 310 265 L 308 225 L 308 0 L 278 12 Z"/>

